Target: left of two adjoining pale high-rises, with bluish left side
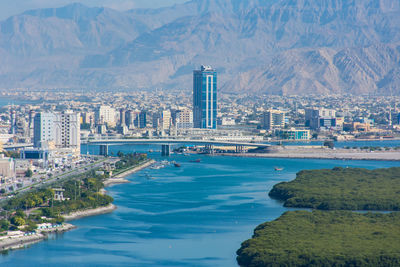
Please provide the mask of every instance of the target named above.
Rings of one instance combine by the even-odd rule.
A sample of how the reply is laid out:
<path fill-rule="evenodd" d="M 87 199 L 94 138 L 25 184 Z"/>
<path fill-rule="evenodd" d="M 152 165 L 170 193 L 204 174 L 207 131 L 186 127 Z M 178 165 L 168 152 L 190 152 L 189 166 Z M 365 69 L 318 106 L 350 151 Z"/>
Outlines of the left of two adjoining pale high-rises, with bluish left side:
<path fill-rule="evenodd" d="M 40 112 L 34 118 L 33 145 L 41 147 L 42 144 L 54 141 L 54 114 Z"/>

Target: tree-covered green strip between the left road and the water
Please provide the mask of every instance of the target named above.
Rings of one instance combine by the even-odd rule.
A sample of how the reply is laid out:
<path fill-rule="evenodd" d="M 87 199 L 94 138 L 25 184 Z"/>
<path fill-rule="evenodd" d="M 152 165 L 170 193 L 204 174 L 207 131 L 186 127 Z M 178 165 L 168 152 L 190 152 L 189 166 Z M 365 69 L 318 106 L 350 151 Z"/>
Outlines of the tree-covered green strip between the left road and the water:
<path fill-rule="evenodd" d="M 147 162 L 146 154 L 123 154 L 119 153 L 119 160 L 113 166 L 113 170 L 121 174 Z M 108 169 L 108 170 L 107 170 Z M 109 168 L 92 169 L 85 173 L 69 177 L 65 181 L 60 181 L 52 186 L 40 189 L 32 189 L 26 193 L 19 193 L 2 204 L 0 212 L 0 250 L 8 249 L 3 243 L 12 239 L 12 232 L 20 233 L 21 237 L 39 234 L 40 238 L 48 229 L 69 230 L 73 227 L 63 227 L 64 216 L 71 213 L 88 211 L 88 215 L 104 213 L 105 207 L 111 207 L 113 198 L 105 194 L 104 183 L 111 176 Z M 55 193 L 62 192 L 62 199 L 56 198 Z M 74 216 L 72 216 L 74 218 Z M 46 225 L 45 231 L 41 230 Z M 56 226 L 60 226 L 59 228 Z M 1 238 L 1 237 L 7 237 Z M 20 239 L 23 240 L 24 238 Z M 32 238 L 31 238 L 32 239 Z M 31 239 L 27 239 L 30 241 Z M 15 242 L 14 242 L 15 243 Z"/>

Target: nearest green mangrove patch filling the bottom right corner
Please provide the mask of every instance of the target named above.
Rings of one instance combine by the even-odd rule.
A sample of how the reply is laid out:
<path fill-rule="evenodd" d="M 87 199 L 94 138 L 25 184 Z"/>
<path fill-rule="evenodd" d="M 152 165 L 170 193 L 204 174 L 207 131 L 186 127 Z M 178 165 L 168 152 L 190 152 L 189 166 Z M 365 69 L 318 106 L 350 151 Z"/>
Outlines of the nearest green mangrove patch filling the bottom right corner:
<path fill-rule="evenodd" d="M 400 266 L 400 214 L 291 211 L 258 226 L 240 266 Z"/>

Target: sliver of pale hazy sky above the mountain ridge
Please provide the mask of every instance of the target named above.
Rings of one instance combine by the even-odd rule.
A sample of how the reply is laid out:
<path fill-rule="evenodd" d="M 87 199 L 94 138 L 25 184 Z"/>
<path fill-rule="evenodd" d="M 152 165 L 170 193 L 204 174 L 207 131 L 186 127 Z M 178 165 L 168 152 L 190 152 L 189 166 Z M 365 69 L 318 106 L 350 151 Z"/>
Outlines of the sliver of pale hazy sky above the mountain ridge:
<path fill-rule="evenodd" d="M 184 3 L 188 0 L 0 0 L 0 20 L 22 13 L 28 9 L 60 7 L 71 3 L 87 6 L 106 6 L 118 10 L 132 8 L 157 8 Z"/>

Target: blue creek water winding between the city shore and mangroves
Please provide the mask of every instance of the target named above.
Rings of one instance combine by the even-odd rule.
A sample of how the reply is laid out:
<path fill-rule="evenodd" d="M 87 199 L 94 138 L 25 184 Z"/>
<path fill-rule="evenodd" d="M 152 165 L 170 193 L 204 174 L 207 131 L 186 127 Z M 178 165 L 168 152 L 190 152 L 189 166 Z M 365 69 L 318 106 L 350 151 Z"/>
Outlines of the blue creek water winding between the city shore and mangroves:
<path fill-rule="evenodd" d="M 129 151 L 133 147 L 112 147 Z M 146 148 L 143 148 L 144 150 Z M 158 157 L 154 154 L 154 157 Z M 202 163 L 190 163 L 201 158 Z M 267 195 L 302 169 L 391 167 L 397 162 L 172 156 L 181 168 L 144 170 L 108 188 L 118 209 L 0 257 L 1 266 L 237 266 L 254 228 L 286 208 Z M 274 166 L 283 167 L 282 172 Z M 148 180 L 145 173 L 152 176 Z"/>

